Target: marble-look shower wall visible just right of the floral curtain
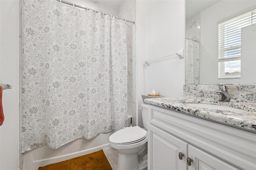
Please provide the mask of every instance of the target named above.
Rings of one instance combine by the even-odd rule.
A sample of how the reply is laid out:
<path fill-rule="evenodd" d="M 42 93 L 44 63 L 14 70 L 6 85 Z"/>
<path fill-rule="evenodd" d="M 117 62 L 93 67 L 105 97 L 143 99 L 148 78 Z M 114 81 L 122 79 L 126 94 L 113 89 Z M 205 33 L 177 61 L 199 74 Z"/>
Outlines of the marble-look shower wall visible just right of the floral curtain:
<path fill-rule="evenodd" d="M 118 17 L 135 21 L 135 0 L 124 0 L 118 8 Z M 135 24 L 126 22 L 128 115 L 135 118 Z"/>

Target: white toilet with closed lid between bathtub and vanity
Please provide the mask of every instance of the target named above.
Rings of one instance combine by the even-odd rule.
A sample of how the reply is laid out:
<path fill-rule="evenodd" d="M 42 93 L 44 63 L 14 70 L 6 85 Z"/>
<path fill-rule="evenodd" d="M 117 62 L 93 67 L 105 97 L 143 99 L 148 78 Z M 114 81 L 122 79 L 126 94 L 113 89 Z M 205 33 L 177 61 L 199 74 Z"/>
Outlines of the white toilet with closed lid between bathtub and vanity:
<path fill-rule="evenodd" d="M 143 128 L 126 127 L 109 136 L 109 145 L 118 151 L 118 170 L 144 170 L 148 166 L 148 105 L 142 103 Z"/>

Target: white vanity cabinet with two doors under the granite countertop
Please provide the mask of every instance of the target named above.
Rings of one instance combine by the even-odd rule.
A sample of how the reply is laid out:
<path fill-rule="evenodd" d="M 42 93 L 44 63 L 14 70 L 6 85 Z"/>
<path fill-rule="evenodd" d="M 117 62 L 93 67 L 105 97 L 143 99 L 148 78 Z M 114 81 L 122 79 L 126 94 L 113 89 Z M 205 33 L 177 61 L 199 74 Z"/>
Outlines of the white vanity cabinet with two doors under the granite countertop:
<path fill-rule="evenodd" d="M 148 170 L 255 170 L 256 134 L 152 105 L 148 112 Z"/>

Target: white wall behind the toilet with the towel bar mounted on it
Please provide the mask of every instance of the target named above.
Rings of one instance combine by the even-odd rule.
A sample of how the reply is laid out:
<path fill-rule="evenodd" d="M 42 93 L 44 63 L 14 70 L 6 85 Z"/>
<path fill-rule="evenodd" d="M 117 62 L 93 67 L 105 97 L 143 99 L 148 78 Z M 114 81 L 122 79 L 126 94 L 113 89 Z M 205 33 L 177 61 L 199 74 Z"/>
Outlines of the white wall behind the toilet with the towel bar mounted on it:
<path fill-rule="evenodd" d="M 142 94 L 153 89 L 162 96 L 182 96 L 185 59 L 178 56 L 145 65 L 147 59 L 171 55 L 185 48 L 184 0 L 136 1 L 136 108 Z M 138 109 L 137 109 L 138 113 Z M 140 112 L 137 114 L 140 117 Z M 141 121 L 138 122 L 141 124 Z"/>

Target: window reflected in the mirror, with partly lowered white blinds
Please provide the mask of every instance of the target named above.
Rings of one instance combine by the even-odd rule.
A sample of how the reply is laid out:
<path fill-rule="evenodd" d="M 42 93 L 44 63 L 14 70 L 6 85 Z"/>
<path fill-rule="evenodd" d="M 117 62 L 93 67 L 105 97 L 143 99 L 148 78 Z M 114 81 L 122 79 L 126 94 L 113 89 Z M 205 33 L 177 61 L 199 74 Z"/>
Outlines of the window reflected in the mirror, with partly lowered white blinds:
<path fill-rule="evenodd" d="M 218 24 L 218 78 L 240 78 L 241 28 L 254 23 L 256 23 L 256 10 Z"/>

